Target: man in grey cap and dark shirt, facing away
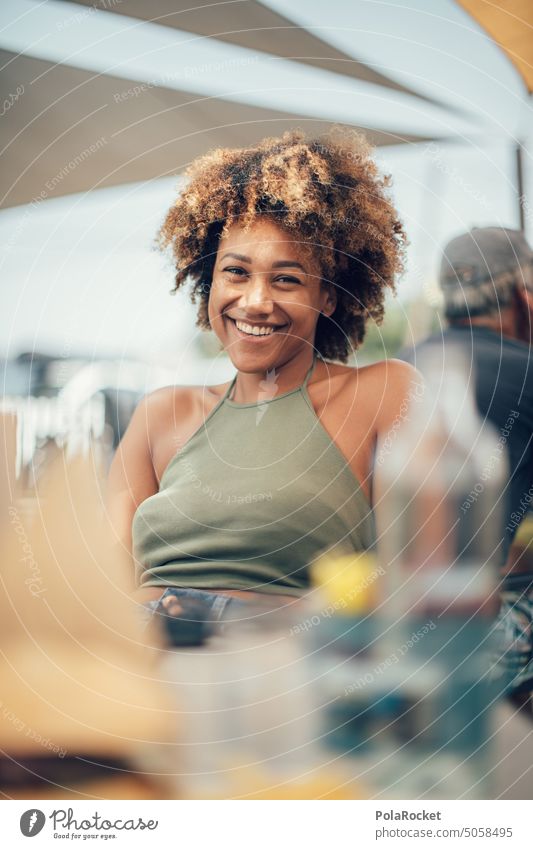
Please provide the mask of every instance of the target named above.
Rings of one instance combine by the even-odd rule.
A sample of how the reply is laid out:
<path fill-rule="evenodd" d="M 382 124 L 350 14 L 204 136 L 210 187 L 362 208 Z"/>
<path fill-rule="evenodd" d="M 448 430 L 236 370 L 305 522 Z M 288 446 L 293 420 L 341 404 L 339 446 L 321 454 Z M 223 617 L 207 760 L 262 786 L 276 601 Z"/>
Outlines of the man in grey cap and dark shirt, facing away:
<path fill-rule="evenodd" d="M 438 352 L 459 349 L 473 372 L 480 416 L 498 431 L 509 461 L 502 535 L 508 552 L 499 627 L 517 701 L 533 687 L 533 251 L 522 232 L 474 228 L 443 252 L 440 287 L 447 327 L 400 356 L 424 373 Z M 435 360 L 433 359 L 433 364 Z M 517 529 L 520 532 L 517 534 Z M 515 539 L 516 538 L 516 539 Z"/>

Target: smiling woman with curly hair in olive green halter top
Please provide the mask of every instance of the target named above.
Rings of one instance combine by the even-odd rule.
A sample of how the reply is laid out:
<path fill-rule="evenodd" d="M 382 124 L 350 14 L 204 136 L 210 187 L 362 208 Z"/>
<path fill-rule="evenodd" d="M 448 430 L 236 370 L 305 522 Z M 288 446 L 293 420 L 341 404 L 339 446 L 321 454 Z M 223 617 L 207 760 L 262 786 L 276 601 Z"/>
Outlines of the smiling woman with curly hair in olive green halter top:
<path fill-rule="evenodd" d="M 217 150 L 188 176 L 160 242 L 236 373 L 143 400 L 111 469 L 113 521 L 146 600 L 299 596 L 320 553 L 374 543 L 372 458 L 416 372 L 332 360 L 381 321 L 404 232 L 353 132 Z"/>

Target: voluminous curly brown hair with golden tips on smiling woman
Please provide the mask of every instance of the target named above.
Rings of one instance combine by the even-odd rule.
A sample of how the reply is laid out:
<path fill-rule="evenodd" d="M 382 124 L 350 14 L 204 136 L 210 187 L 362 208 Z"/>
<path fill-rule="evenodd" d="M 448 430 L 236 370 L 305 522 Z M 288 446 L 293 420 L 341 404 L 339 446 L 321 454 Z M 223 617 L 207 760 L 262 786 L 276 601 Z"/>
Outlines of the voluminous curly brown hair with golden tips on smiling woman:
<path fill-rule="evenodd" d="M 382 322 L 385 291 L 395 288 L 407 243 L 388 197 L 390 178 L 379 175 L 371 153 L 362 135 L 335 127 L 315 139 L 294 130 L 194 160 L 158 243 L 172 248 L 174 291 L 192 282 L 199 327 L 209 328 L 219 239 L 236 221 L 246 228 L 268 215 L 314 254 L 323 284 L 335 287 L 337 306 L 319 317 L 315 347 L 325 358 L 347 360 L 368 320 Z"/>

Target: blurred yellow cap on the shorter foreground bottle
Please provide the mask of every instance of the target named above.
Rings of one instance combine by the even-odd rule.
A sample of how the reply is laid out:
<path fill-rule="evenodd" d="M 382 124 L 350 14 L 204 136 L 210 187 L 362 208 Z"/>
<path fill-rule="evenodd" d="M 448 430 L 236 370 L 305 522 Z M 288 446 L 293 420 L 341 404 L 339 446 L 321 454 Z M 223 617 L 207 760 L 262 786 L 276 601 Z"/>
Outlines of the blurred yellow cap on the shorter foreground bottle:
<path fill-rule="evenodd" d="M 363 614 L 376 607 L 383 569 L 376 557 L 360 554 L 327 554 L 311 567 L 311 582 L 320 587 L 325 603 L 339 614 Z"/>

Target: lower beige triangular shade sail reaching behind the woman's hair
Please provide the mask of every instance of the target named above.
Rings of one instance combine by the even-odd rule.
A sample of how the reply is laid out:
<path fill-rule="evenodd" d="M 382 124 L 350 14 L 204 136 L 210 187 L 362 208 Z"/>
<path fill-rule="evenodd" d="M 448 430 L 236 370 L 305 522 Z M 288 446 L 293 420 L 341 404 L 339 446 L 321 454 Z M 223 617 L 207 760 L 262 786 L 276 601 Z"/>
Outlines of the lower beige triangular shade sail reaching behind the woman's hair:
<path fill-rule="evenodd" d="M 330 121 L 264 109 L 0 51 L 4 87 L 24 94 L 0 125 L 1 206 L 182 171 L 213 147 L 242 147 Z M 376 145 L 425 137 L 362 128 Z"/>

